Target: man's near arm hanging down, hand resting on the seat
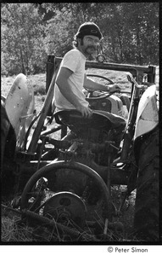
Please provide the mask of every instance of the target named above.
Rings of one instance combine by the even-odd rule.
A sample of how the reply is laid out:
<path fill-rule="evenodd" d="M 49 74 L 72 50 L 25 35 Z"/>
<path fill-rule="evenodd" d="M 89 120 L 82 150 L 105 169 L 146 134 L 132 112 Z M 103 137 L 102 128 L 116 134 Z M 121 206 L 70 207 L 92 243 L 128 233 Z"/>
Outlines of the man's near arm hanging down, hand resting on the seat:
<path fill-rule="evenodd" d="M 73 72 L 67 67 L 61 67 L 56 84 L 58 84 L 59 90 L 62 95 L 70 102 L 78 111 L 81 112 L 82 116 L 91 116 L 92 110 L 90 108 L 83 107 L 79 102 L 79 99 L 71 90 L 68 79 Z"/>

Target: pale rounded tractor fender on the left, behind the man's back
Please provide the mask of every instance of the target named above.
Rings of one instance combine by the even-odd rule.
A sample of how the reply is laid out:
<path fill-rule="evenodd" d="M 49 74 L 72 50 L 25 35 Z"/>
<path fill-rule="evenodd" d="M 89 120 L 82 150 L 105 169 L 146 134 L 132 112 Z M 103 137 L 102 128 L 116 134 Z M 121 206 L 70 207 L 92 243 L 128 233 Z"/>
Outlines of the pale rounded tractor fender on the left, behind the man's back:
<path fill-rule="evenodd" d="M 25 133 L 35 114 L 34 91 L 23 73 L 14 79 L 5 101 L 5 110 L 15 132 L 16 149 L 23 148 Z"/>

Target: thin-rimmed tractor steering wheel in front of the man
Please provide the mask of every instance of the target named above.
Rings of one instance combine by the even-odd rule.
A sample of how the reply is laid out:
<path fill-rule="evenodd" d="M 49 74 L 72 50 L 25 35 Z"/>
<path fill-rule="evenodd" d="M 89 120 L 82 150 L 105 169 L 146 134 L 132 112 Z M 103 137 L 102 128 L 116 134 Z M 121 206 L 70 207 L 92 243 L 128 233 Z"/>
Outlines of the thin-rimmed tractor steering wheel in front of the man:
<path fill-rule="evenodd" d="M 104 79 L 104 80 L 108 81 L 109 84 L 115 84 L 111 79 L 105 78 L 105 77 L 100 76 L 98 74 L 87 74 L 87 77 L 96 77 L 96 78 Z M 98 90 L 88 90 L 87 89 L 87 92 L 88 92 L 87 97 L 86 97 L 87 102 L 91 102 L 91 101 L 94 101 L 94 100 L 101 100 L 101 99 L 104 99 L 104 98 L 107 98 L 107 97 L 111 96 L 114 93 L 114 92 L 113 93 L 108 93 L 108 92 L 105 92 L 105 91 L 99 91 L 100 93 L 98 94 L 98 96 L 93 96 L 94 91 L 98 91 Z"/>

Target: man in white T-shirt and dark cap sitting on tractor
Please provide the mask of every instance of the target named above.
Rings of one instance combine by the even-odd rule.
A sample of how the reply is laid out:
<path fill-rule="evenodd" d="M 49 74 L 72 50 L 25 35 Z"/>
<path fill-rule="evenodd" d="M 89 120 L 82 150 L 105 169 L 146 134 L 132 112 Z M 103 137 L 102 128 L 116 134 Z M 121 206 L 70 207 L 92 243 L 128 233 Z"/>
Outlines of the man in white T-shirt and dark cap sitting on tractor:
<path fill-rule="evenodd" d="M 91 117 L 92 109 L 88 107 L 83 89 L 114 92 L 120 90 L 116 84 L 98 84 L 87 79 L 85 64 L 87 57 L 95 53 L 103 37 L 99 27 L 93 22 L 86 22 L 75 34 L 73 46 L 64 55 L 54 87 L 54 104 L 56 111 L 76 109 L 83 117 Z"/>

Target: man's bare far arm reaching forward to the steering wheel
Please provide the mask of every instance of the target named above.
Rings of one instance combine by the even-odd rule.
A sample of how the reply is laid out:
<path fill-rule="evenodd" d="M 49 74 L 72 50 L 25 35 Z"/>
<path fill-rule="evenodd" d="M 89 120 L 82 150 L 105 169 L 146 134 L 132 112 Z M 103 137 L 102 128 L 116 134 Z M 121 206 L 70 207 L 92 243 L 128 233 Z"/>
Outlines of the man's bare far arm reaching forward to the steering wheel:
<path fill-rule="evenodd" d="M 103 84 L 94 82 L 92 79 L 87 79 L 86 74 L 84 79 L 84 88 L 89 90 L 103 90 L 103 91 L 109 91 L 109 92 L 115 92 L 117 90 L 120 90 L 120 87 L 116 84 L 103 85 Z"/>

